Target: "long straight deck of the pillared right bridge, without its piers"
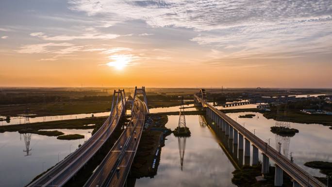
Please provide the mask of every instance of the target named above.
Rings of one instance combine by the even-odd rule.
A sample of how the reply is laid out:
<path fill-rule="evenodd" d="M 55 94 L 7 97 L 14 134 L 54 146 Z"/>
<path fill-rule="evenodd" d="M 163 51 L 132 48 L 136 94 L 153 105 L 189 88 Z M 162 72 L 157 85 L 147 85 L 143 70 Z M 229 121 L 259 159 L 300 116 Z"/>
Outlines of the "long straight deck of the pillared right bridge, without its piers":
<path fill-rule="evenodd" d="M 295 181 L 297 181 L 302 187 L 326 187 L 314 176 L 310 175 L 305 170 L 301 169 L 295 163 L 292 163 L 287 157 L 278 153 L 277 150 L 273 149 L 266 142 L 261 140 L 259 137 L 252 134 L 242 125 L 228 117 L 226 114 L 222 113 L 220 110 L 216 109 L 211 104 L 202 101 L 196 94 L 194 97 L 198 102 L 204 102 L 204 105 L 210 108 L 216 115 L 226 121 L 228 124 L 232 125 L 234 129 L 248 139 L 253 145 L 255 145 L 262 153 L 266 154 L 270 159 L 272 159 L 283 171 L 285 171 L 289 176 L 291 176 Z"/>

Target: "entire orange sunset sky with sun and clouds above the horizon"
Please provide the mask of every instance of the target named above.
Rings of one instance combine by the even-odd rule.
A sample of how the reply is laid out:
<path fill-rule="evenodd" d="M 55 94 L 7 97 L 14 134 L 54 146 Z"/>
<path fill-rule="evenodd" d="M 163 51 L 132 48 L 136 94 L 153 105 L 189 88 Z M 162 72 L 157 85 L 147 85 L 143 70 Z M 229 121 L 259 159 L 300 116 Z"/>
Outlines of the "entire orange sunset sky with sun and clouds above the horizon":
<path fill-rule="evenodd" d="M 331 0 L 1 0 L 0 86 L 332 87 Z"/>

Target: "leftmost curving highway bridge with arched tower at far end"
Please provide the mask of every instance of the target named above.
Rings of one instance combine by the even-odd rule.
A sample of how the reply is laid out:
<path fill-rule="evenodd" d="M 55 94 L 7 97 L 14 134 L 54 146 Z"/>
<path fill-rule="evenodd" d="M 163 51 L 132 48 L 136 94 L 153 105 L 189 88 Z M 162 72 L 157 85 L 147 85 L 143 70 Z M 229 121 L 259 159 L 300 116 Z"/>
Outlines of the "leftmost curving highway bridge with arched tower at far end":
<path fill-rule="evenodd" d="M 123 93 L 123 94 L 122 94 Z M 116 97 L 117 94 L 117 97 Z M 116 102 L 115 102 L 116 97 Z M 100 129 L 64 160 L 33 181 L 28 187 L 62 187 L 70 180 L 112 136 L 122 115 L 125 114 L 124 90 L 114 90 L 112 110 Z"/>

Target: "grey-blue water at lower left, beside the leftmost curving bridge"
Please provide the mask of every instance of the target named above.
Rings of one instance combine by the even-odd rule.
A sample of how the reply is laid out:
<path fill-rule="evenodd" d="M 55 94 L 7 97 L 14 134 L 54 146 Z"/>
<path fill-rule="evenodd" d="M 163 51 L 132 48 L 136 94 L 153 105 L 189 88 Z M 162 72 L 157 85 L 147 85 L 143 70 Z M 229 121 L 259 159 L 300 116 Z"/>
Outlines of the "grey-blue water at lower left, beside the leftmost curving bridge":
<path fill-rule="evenodd" d="M 65 134 L 86 136 L 91 129 L 60 129 Z M 90 135 L 88 135 L 90 137 Z M 78 148 L 80 140 L 59 140 L 52 136 L 31 136 L 30 156 L 24 156 L 24 137 L 17 132 L 0 133 L 0 187 L 23 187 L 43 170 L 49 169 Z"/>

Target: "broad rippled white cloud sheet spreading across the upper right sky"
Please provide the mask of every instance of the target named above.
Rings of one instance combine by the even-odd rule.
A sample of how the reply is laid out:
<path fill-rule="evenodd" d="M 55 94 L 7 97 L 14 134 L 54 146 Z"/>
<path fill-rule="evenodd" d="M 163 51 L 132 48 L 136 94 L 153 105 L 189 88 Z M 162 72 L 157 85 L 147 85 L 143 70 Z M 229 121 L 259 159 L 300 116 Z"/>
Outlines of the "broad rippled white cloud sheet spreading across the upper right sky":
<path fill-rule="evenodd" d="M 331 42 L 322 42 L 332 38 L 331 0 L 69 0 L 69 4 L 71 10 L 102 15 L 101 19 L 142 19 L 152 28 L 192 29 L 198 35 L 191 41 L 225 52 L 219 58 L 275 58 L 282 53 L 297 57 L 332 48 Z"/>

